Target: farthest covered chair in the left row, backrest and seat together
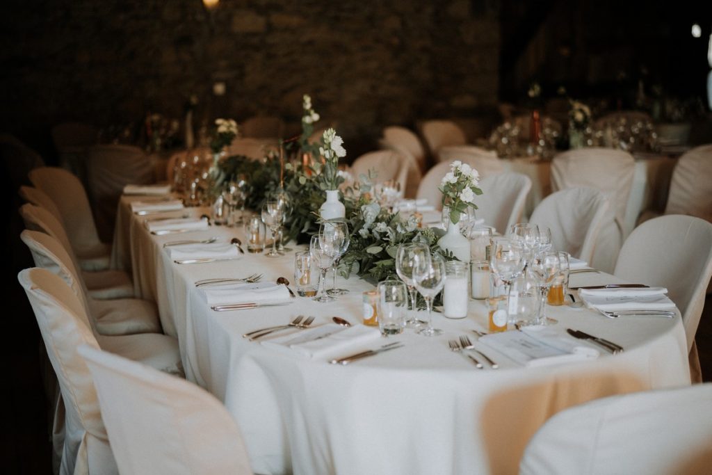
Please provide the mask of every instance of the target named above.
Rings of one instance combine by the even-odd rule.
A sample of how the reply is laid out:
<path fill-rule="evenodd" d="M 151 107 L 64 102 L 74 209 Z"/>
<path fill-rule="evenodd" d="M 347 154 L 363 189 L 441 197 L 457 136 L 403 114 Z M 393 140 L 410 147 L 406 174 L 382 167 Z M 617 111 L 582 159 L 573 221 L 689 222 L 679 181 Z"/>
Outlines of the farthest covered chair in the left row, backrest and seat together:
<path fill-rule="evenodd" d="M 109 268 L 111 246 L 99 239 L 89 199 L 79 179 L 57 167 L 33 169 L 29 177 L 32 184 L 46 194 L 59 210 L 57 216 L 61 216 L 68 230 L 69 241 L 81 268 L 87 271 Z M 28 202 L 42 206 L 29 198 Z"/>

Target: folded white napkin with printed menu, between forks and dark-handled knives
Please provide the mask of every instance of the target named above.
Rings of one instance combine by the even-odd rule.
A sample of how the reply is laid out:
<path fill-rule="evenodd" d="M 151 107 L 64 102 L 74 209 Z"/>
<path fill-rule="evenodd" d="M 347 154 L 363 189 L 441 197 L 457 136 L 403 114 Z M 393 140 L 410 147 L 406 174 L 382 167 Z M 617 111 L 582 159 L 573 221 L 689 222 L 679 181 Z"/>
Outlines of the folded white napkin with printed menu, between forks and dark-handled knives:
<path fill-rule="evenodd" d="M 527 367 L 592 360 L 600 355 L 595 348 L 579 345 L 555 329 L 546 327 L 492 333 L 479 341 Z"/>

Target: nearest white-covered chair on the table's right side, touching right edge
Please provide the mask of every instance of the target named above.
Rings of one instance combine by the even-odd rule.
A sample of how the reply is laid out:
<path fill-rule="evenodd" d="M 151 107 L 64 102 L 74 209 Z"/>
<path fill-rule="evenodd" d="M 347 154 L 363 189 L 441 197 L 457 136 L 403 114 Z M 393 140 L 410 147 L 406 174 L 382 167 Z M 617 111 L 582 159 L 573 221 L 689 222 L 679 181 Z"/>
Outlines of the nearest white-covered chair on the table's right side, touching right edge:
<path fill-rule="evenodd" d="M 685 326 L 691 375 L 701 380 L 695 333 L 712 276 L 712 224 L 681 214 L 645 221 L 624 242 L 614 275 L 668 289 Z"/>

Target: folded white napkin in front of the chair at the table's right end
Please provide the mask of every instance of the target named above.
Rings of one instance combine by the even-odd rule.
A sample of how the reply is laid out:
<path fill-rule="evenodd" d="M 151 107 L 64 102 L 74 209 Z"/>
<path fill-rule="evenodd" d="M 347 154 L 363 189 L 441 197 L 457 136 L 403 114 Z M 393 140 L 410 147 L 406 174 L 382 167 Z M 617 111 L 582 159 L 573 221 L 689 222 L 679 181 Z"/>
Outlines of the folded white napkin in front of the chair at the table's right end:
<path fill-rule="evenodd" d="M 579 289 L 579 296 L 586 306 L 609 311 L 675 308 L 666 293 L 664 287 Z"/>

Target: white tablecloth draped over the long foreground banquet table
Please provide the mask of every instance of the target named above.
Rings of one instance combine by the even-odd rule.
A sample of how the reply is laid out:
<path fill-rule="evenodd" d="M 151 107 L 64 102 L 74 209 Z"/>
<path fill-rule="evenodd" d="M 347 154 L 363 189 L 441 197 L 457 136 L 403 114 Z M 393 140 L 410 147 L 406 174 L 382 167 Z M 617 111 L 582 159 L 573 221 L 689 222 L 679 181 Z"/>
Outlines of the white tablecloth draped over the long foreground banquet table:
<path fill-rule="evenodd" d="M 372 285 L 356 276 L 340 278 L 340 286 L 350 293 L 333 303 L 295 298 L 289 306 L 215 312 L 194 281 L 253 272 L 268 281 L 279 276 L 293 280 L 293 254 L 174 263 L 162 246 L 167 241 L 217 236 L 225 242 L 242 238 L 241 230 L 211 226 L 154 236 L 145 229 L 144 218 L 130 213 L 130 199 L 122 198 L 118 221 L 126 227 L 128 241 L 122 245 L 130 244 L 137 293 L 157 301 L 165 333 L 179 339 L 187 378 L 223 401 L 236 419 L 256 473 L 516 473 L 530 437 L 561 409 L 608 395 L 690 383 L 679 315 L 609 320 L 568 306 L 547 308 L 559 320 L 556 328 L 608 338 L 625 352 L 520 367 L 484 350 L 501 369 L 477 370 L 447 345 L 464 334 L 475 340 L 472 329 L 486 330 L 485 307 L 471 301 L 463 320 L 436 314 L 434 325 L 445 330 L 443 335 L 424 338 L 406 330 L 389 339 L 404 342 L 403 348 L 347 366 L 286 355 L 241 335 L 288 323 L 295 315 L 315 315 L 313 325 L 328 323 L 332 315 L 359 323 L 361 292 Z M 188 212 L 199 216 L 202 211 Z M 571 279 L 572 286 L 619 281 L 602 273 Z"/>

